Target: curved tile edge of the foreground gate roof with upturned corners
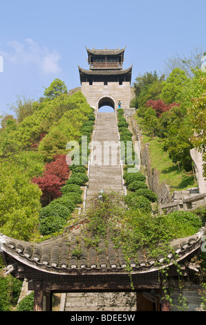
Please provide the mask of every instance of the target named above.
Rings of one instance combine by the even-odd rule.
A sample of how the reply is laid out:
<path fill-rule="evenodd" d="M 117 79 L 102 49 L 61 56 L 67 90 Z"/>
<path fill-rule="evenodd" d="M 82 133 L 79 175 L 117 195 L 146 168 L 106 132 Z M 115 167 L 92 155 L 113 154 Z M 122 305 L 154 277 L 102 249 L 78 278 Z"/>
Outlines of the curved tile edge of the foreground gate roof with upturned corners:
<path fill-rule="evenodd" d="M 50 274 L 50 275 L 59 275 L 59 276 L 75 276 L 75 275 L 129 275 L 129 274 L 133 274 L 133 275 L 140 275 L 140 274 L 148 274 L 148 273 L 153 273 L 156 272 L 160 269 L 163 268 L 167 268 L 170 266 L 174 265 L 174 262 L 180 262 L 184 259 L 187 259 L 187 257 L 191 254 L 193 254 L 194 252 L 196 252 L 197 250 L 200 249 L 200 245 L 201 245 L 201 237 L 203 236 L 203 234 L 205 233 L 205 228 L 202 228 L 200 230 L 200 232 L 194 234 L 193 236 L 189 236 L 189 237 L 185 237 L 182 239 L 175 239 L 174 241 L 171 241 L 171 245 L 174 246 L 176 245 L 176 243 L 178 241 L 180 242 L 189 242 L 189 239 L 191 239 L 191 237 L 196 237 L 196 240 L 194 241 L 194 243 L 192 243 L 190 246 L 187 246 L 187 248 L 185 250 L 182 250 L 182 252 L 180 252 L 178 254 L 178 259 L 173 259 L 171 258 L 171 260 L 169 261 L 169 263 L 160 263 L 160 265 L 156 266 L 155 264 L 151 264 L 151 265 L 144 265 L 144 266 L 134 266 L 131 268 L 131 271 L 127 271 L 125 267 L 123 266 L 116 266 L 116 267 L 111 267 L 111 266 L 106 266 L 104 268 L 102 267 L 95 267 L 92 268 L 91 266 L 85 266 L 84 268 L 71 268 L 71 267 L 67 267 L 67 268 L 62 268 L 59 266 L 51 266 L 51 265 L 46 265 L 40 261 L 35 261 L 29 257 L 24 256 L 24 254 L 20 254 L 19 252 L 17 252 L 17 250 L 15 248 L 11 248 L 10 247 L 10 242 L 11 241 L 15 241 L 15 243 L 24 243 L 24 245 L 45 245 L 44 242 L 40 242 L 40 243 L 28 243 L 28 242 L 24 242 L 24 241 L 19 241 L 16 239 L 12 239 L 8 236 L 1 236 L 1 254 L 5 254 L 6 256 L 10 257 L 12 260 L 15 260 L 17 263 L 20 263 L 21 265 L 23 264 L 24 266 L 27 266 L 29 268 L 32 268 L 33 270 L 37 271 L 37 272 L 45 272 L 46 274 Z M 67 234 L 68 236 L 68 234 Z M 57 237 L 57 239 L 53 239 L 53 244 L 55 244 L 55 242 L 57 243 L 59 237 Z M 68 239 L 68 237 L 67 237 Z M 4 259 L 6 260 L 6 259 Z"/>

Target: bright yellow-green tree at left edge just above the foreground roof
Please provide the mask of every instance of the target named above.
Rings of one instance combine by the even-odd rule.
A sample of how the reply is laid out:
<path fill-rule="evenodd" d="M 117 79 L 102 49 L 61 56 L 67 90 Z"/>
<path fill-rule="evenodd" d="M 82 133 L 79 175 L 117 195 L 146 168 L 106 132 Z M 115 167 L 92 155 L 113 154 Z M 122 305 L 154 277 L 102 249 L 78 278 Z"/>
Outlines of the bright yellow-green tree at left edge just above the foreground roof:
<path fill-rule="evenodd" d="M 37 234 L 41 190 L 11 162 L 0 165 L 0 232 L 28 241 Z"/>

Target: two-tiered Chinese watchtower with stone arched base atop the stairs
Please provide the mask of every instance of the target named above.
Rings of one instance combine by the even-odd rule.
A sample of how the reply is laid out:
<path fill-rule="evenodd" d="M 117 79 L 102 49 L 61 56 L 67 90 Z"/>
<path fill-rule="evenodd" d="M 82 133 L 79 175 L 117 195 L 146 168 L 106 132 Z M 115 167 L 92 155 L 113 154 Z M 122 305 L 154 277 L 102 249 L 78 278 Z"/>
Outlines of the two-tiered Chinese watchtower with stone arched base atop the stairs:
<path fill-rule="evenodd" d="M 118 102 L 124 111 L 129 109 L 133 97 L 132 66 L 122 69 L 124 50 L 125 47 L 121 50 L 86 48 L 89 70 L 79 67 L 79 76 L 82 93 L 96 111 L 102 106 L 111 106 L 116 111 Z"/>

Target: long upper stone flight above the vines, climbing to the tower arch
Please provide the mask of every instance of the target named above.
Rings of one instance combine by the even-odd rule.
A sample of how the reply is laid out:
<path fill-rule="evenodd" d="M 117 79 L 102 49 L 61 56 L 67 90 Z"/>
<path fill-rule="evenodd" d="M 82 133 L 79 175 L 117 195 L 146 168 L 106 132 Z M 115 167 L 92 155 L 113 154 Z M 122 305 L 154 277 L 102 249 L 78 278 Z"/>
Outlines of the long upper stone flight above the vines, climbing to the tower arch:
<path fill-rule="evenodd" d="M 86 204 L 102 189 L 123 194 L 120 142 L 115 113 L 97 113 Z"/>

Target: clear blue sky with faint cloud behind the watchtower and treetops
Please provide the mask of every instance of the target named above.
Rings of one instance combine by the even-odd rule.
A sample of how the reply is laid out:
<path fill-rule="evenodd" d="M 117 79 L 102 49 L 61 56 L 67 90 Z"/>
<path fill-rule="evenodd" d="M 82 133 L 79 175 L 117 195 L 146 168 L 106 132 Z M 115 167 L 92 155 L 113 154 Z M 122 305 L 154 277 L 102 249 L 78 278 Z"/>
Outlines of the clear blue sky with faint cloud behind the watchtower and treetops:
<path fill-rule="evenodd" d="M 123 48 L 132 83 L 165 60 L 206 50 L 205 0 L 0 0 L 0 112 L 17 97 L 37 100 L 55 78 L 80 86 L 88 48 Z"/>

